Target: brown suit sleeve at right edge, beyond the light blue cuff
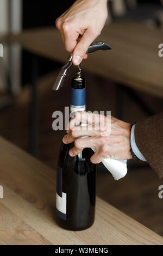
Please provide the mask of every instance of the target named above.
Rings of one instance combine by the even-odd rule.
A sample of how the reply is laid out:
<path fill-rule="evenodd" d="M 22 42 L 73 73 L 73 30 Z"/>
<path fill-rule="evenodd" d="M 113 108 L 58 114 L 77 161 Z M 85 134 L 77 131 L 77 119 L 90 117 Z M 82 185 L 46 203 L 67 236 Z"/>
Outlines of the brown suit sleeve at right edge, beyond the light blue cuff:
<path fill-rule="evenodd" d="M 135 125 L 135 142 L 152 169 L 163 178 L 163 113 Z"/>

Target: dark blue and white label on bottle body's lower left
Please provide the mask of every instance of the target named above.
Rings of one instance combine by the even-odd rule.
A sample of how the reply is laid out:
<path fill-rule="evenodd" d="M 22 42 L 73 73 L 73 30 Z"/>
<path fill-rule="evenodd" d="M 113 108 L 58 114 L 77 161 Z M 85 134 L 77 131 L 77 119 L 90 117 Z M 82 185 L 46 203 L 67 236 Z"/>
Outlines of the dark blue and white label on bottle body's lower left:
<path fill-rule="evenodd" d="M 66 220 L 66 202 L 67 195 L 62 192 L 62 168 L 57 167 L 57 193 L 56 193 L 56 209 L 57 215 L 62 220 Z"/>

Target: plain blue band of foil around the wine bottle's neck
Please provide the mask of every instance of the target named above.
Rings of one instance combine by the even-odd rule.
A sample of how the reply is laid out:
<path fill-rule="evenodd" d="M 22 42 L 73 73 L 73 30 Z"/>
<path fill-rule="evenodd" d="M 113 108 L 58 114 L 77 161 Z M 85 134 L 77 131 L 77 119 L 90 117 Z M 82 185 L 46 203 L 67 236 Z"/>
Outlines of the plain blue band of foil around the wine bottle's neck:
<path fill-rule="evenodd" d="M 71 105 L 73 105 L 73 106 L 84 106 L 85 105 L 85 88 L 84 89 L 72 88 Z"/>

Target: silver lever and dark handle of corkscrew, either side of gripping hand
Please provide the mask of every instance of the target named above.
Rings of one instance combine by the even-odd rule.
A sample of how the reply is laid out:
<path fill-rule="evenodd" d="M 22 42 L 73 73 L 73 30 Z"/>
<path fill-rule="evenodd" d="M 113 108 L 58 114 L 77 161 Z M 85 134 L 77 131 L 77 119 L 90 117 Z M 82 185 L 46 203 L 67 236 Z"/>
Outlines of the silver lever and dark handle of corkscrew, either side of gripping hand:
<path fill-rule="evenodd" d="M 98 50 L 106 51 L 111 50 L 111 47 L 104 42 L 93 42 L 93 44 L 90 45 L 90 47 L 87 50 L 87 53 L 96 52 Z M 54 83 L 53 90 L 59 90 L 60 87 L 62 87 L 64 83 L 64 79 L 66 75 L 68 74 L 68 70 L 71 68 L 72 64 L 72 57 L 73 54 L 70 54 L 70 56 L 67 59 L 67 64 L 62 67 L 61 71 L 59 72 L 59 75 L 57 77 L 57 80 Z"/>

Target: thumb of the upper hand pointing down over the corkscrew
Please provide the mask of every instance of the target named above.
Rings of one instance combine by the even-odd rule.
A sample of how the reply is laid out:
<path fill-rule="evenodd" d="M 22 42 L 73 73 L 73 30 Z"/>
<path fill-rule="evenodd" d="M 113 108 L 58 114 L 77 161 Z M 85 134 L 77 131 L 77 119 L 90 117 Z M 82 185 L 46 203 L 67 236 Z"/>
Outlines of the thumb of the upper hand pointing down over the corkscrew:
<path fill-rule="evenodd" d="M 74 48 L 72 59 L 74 65 L 79 65 L 82 62 L 89 46 L 92 44 L 95 38 L 96 35 L 93 34 L 92 30 L 88 28 L 83 34 L 78 44 L 76 45 L 76 47 Z"/>

